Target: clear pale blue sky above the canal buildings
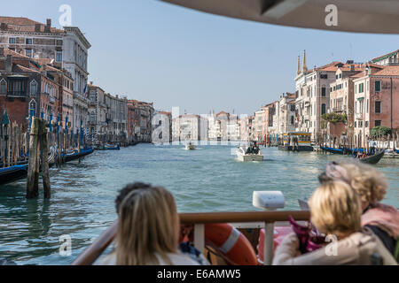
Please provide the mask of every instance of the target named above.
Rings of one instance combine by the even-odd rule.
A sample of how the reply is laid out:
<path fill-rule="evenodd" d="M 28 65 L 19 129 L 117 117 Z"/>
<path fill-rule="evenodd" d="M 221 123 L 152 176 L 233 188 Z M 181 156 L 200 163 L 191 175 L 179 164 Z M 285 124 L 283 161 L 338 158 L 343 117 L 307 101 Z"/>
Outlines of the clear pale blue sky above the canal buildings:
<path fill-rule="evenodd" d="M 297 57 L 308 67 L 355 62 L 399 49 L 399 35 L 278 27 L 192 11 L 157 0 L 20 0 L 3 16 L 51 18 L 72 7 L 90 41 L 90 79 L 107 92 L 153 102 L 158 110 L 252 114 L 293 92 Z"/>

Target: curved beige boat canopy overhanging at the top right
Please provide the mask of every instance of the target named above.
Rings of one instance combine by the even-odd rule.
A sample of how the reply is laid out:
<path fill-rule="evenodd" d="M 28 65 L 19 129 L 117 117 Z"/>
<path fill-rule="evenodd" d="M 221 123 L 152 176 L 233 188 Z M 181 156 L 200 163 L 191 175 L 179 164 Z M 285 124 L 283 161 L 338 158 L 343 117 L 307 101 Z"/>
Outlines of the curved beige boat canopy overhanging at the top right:
<path fill-rule="evenodd" d="M 356 33 L 399 34 L 398 0 L 160 0 L 198 11 L 269 24 Z M 328 27 L 334 4 L 338 25 Z M 330 10 L 331 11 L 331 10 Z"/>

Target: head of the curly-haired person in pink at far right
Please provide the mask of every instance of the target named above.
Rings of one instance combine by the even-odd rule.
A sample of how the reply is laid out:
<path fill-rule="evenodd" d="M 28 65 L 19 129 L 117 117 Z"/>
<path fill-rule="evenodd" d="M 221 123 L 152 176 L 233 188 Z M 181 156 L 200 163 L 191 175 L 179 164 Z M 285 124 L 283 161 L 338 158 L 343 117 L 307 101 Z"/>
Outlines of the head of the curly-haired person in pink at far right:
<path fill-rule="evenodd" d="M 362 209 L 370 203 L 379 203 L 387 194 L 387 179 L 371 165 L 360 162 L 330 163 L 319 176 L 320 183 L 330 180 L 347 182 L 360 196 Z"/>

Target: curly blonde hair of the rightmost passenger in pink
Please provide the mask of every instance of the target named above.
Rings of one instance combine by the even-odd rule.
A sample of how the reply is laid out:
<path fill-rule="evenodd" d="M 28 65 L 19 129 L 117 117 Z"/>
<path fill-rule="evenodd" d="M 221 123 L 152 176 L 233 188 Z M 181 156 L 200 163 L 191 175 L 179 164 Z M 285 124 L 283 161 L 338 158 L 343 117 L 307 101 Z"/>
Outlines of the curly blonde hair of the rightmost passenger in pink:
<path fill-rule="evenodd" d="M 364 203 L 378 203 L 387 194 L 387 179 L 371 165 L 360 162 L 342 163 L 348 174 L 348 183 Z"/>

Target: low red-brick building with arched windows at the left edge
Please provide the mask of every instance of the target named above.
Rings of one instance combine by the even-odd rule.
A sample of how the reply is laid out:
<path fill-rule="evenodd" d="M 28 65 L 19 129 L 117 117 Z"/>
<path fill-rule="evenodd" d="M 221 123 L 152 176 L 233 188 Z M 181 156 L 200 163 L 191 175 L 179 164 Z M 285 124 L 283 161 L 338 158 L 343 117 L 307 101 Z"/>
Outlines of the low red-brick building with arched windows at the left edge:
<path fill-rule="evenodd" d="M 0 48 L 0 108 L 27 130 L 30 118 L 50 124 L 62 115 L 63 71 L 40 65 L 30 57 Z"/>

